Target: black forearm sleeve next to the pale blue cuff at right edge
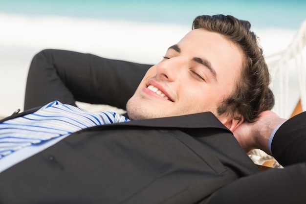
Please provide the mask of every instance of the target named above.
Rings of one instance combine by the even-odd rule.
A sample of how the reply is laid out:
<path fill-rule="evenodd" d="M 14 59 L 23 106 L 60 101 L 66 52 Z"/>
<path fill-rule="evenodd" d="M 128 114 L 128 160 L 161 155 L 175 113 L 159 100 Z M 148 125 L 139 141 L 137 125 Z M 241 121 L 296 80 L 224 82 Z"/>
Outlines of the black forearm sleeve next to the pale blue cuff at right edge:
<path fill-rule="evenodd" d="M 283 166 L 306 162 L 306 112 L 290 118 L 278 129 L 271 150 Z"/>

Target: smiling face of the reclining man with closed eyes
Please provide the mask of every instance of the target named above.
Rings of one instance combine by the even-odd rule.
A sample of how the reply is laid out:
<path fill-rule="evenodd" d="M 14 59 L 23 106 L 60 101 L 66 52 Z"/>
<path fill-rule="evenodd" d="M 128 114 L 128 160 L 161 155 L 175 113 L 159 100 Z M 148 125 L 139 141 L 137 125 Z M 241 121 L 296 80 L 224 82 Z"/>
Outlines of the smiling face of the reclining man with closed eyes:
<path fill-rule="evenodd" d="M 148 70 L 127 104 L 132 120 L 212 112 L 235 89 L 240 49 L 218 33 L 189 32 Z"/>

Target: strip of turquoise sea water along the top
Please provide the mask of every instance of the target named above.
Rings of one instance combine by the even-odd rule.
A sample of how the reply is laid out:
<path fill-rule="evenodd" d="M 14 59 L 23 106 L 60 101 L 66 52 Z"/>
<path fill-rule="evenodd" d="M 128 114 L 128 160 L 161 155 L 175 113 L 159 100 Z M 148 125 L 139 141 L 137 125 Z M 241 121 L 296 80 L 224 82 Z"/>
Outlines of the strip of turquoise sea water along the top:
<path fill-rule="evenodd" d="M 197 15 L 225 14 L 257 27 L 297 29 L 306 17 L 301 0 L 0 0 L 0 12 L 36 17 L 190 25 Z"/>

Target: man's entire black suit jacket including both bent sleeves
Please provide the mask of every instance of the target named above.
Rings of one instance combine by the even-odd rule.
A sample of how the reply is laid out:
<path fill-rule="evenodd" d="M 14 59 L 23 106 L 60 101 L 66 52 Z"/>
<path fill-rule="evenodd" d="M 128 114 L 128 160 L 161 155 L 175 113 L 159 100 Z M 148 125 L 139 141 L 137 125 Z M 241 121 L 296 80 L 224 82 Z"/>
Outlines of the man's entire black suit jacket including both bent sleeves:
<path fill-rule="evenodd" d="M 125 108 L 149 67 L 43 50 L 30 66 L 25 109 L 52 100 Z M 282 165 L 306 161 L 305 120 L 277 131 L 272 153 Z M 305 163 L 256 172 L 212 113 L 131 121 L 74 133 L 0 173 L 0 204 L 305 203 Z"/>

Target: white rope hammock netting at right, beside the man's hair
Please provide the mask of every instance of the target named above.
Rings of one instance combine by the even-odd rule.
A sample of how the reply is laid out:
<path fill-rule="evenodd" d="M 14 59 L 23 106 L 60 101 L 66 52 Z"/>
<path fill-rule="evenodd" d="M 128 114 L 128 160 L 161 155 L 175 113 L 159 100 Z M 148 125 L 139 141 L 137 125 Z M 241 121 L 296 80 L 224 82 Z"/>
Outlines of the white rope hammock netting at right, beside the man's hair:
<path fill-rule="evenodd" d="M 274 59 L 275 56 L 278 55 L 278 59 Z M 299 88 L 296 88 L 299 91 L 299 96 L 301 98 L 302 110 L 306 111 L 306 21 L 304 21 L 298 30 L 295 38 L 292 43 L 288 46 L 286 50 L 281 53 L 277 53 L 271 56 L 268 56 L 268 63 L 272 82 L 276 79 L 279 83 L 279 91 L 278 97 L 276 97 L 275 101 L 275 112 L 277 112 L 281 117 L 288 118 L 291 114 L 292 107 L 296 104 L 289 104 L 289 76 L 294 67 L 296 68 L 297 76 L 294 77 L 293 80 L 297 80 Z M 291 78 L 292 79 L 292 78 Z M 273 90 L 273 86 L 277 85 L 275 83 L 271 83 L 271 89 Z M 275 91 L 274 91 L 275 92 Z"/>

